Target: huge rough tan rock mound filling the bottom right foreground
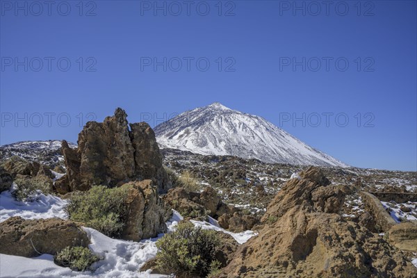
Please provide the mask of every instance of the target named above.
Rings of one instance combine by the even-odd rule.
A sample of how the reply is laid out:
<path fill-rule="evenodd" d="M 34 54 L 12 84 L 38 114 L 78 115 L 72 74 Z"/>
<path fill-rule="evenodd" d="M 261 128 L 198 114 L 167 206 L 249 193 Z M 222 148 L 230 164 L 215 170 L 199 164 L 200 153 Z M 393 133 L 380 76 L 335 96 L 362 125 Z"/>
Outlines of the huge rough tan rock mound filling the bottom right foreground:
<path fill-rule="evenodd" d="M 348 188 L 329 186 L 316 167 L 300 177 L 284 184 L 259 235 L 240 245 L 216 277 L 416 277 L 414 265 L 382 236 L 336 213 Z"/>

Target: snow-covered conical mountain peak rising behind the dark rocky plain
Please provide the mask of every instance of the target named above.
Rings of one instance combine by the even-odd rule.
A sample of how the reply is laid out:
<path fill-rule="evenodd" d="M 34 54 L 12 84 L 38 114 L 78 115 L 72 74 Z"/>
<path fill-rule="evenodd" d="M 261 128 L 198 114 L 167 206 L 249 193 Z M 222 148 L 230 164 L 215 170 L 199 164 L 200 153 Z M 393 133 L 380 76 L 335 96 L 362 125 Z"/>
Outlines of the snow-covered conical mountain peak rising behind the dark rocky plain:
<path fill-rule="evenodd" d="M 184 112 L 159 124 L 154 131 L 162 148 L 256 158 L 267 163 L 347 166 L 262 117 L 231 110 L 217 102 Z"/>

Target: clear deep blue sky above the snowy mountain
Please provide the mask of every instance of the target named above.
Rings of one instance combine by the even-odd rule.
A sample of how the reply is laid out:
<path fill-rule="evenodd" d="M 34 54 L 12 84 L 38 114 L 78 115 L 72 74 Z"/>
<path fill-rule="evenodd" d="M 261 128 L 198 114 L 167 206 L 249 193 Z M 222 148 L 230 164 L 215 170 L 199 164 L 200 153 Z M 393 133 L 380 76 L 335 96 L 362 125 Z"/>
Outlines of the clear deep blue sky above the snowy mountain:
<path fill-rule="evenodd" d="M 350 165 L 417 170 L 416 1 L 0 3 L 1 145 L 220 101 Z"/>

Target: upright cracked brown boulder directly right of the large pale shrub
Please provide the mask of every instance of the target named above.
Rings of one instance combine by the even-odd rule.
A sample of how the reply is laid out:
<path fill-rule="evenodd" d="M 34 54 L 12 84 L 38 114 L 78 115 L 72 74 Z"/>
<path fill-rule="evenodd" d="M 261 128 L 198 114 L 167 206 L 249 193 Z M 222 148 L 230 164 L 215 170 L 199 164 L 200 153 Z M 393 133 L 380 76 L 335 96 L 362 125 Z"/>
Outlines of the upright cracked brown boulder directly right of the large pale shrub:
<path fill-rule="evenodd" d="M 129 187 L 129 195 L 124 204 L 129 214 L 122 238 L 138 241 L 142 238 L 154 238 L 165 232 L 165 222 L 170 218 L 171 212 L 158 197 L 153 181 L 132 181 L 123 186 Z"/>

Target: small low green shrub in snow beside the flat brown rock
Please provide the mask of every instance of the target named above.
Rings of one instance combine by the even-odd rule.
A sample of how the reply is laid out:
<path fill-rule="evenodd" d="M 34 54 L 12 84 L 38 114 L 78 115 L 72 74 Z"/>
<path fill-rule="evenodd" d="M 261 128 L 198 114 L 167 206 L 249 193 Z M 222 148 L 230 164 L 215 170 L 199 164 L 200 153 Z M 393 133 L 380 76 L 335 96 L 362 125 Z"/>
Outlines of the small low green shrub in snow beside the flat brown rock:
<path fill-rule="evenodd" d="M 90 268 L 92 263 L 99 261 L 99 257 L 93 254 L 87 247 L 67 246 L 54 256 L 57 265 L 69 267 L 75 271 L 84 271 Z"/>

